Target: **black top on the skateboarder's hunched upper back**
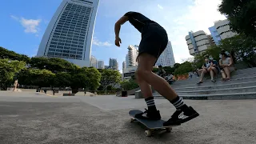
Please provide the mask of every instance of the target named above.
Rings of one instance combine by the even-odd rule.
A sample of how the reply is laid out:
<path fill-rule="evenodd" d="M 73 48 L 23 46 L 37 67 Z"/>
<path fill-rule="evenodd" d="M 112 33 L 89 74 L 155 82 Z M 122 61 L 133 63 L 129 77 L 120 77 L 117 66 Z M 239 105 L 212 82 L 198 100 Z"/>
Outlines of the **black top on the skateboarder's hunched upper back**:
<path fill-rule="evenodd" d="M 150 18 L 146 18 L 146 16 L 144 16 L 143 14 L 134 11 L 130 11 L 126 13 L 124 16 L 127 16 L 129 18 L 130 24 L 132 24 L 141 33 L 142 28 L 146 25 L 146 23 L 158 24 L 157 22 L 150 20 Z"/>

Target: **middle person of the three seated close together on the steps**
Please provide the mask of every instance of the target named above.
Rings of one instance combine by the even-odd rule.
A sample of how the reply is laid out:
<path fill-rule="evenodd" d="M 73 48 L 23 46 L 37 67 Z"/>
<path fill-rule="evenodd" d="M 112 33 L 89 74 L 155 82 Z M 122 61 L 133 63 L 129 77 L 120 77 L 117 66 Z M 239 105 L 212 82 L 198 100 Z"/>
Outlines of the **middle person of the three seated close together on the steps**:
<path fill-rule="evenodd" d="M 210 66 L 207 71 L 210 73 L 211 82 L 216 82 L 216 80 L 214 79 L 214 75 L 217 75 L 219 73 L 218 62 L 214 60 L 212 56 L 209 56 L 209 60 Z"/>

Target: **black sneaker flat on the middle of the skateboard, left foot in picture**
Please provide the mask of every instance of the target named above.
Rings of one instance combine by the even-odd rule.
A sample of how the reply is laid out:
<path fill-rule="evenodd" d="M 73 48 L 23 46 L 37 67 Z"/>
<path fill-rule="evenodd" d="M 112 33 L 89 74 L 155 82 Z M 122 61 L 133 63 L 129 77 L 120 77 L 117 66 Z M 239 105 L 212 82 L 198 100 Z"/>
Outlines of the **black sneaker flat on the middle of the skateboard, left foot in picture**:
<path fill-rule="evenodd" d="M 161 115 L 159 110 L 146 110 L 141 114 L 136 114 L 135 118 L 143 118 L 143 119 L 149 119 L 149 120 L 159 120 L 161 119 Z"/>

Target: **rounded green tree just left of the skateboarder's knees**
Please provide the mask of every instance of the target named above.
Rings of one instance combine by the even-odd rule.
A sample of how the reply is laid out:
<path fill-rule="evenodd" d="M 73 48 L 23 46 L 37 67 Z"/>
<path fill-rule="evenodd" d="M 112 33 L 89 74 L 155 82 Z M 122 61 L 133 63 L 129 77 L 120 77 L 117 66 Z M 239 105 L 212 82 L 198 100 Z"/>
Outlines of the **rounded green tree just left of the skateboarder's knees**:
<path fill-rule="evenodd" d="M 112 85 L 121 82 L 121 74 L 117 70 L 109 70 L 109 69 L 102 69 L 100 70 L 102 74 L 101 78 L 101 85 L 106 90 L 106 86 Z"/>

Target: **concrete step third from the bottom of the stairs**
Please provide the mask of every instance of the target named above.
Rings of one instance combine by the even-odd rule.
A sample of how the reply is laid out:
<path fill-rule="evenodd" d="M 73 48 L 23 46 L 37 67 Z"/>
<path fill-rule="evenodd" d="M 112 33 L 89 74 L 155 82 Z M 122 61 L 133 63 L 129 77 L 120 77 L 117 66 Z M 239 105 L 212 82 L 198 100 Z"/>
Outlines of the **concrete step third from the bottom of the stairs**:
<path fill-rule="evenodd" d="M 182 88 L 175 88 L 174 90 L 175 91 L 217 90 L 217 89 L 230 89 L 230 88 L 247 87 L 247 86 L 256 86 L 256 81 L 254 81 L 254 82 L 238 82 L 238 83 L 214 85 L 214 86 L 182 87 Z"/>

